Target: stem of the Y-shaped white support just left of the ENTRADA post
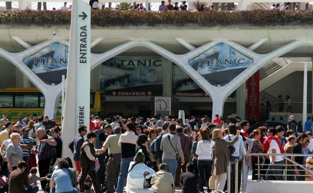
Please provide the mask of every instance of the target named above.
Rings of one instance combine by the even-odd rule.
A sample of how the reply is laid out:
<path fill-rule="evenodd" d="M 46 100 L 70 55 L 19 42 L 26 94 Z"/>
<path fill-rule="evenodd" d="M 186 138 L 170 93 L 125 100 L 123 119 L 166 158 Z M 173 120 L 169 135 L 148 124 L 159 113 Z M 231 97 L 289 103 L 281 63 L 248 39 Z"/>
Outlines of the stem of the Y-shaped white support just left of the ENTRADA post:
<path fill-rule="evenodd" d="M 43 93 L 45 95 L 45 116 L 55 118 L 61 93 Z"/>

